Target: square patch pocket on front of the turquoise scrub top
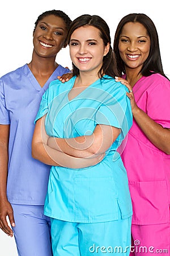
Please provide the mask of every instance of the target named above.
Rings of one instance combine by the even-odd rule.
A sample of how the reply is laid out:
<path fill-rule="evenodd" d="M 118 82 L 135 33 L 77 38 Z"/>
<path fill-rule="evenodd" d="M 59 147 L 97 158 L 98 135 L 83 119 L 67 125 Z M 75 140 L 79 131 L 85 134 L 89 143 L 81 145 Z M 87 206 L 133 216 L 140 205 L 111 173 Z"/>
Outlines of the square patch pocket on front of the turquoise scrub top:
<path fill-rule="evenodd" d="M 75 220 L 103 222 L 117 220 L 117 199 L 113 177 L 74 178 Z"/>

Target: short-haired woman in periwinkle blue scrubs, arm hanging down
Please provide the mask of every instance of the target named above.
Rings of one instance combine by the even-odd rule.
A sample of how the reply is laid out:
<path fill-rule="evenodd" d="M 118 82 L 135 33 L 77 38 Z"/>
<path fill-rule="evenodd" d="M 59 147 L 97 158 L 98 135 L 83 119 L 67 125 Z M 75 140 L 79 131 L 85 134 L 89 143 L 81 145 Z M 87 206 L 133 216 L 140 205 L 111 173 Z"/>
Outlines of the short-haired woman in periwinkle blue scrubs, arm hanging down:
<path fill-rule="evenodd" d="M 59 10 L 42 13 L 35 22 L 31 62 L 0 80 L 0 228 L 11 237 L 14 232 L 18 255 L 52 255 L 44 216 L 50 166 L 32 158 L 31 141 L 42 94 L 69 72 L 56 55 L 66 47 L 70 22 Z"/>

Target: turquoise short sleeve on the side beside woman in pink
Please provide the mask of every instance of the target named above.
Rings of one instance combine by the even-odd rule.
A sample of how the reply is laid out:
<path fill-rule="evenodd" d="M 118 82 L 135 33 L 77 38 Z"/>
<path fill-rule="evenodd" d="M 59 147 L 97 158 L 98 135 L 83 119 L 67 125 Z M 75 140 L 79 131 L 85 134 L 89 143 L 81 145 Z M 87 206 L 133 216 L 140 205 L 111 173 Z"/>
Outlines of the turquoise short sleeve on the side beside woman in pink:
<path fill-rule="evenodd" d="M 126 90 L 117 89 L 115 94 L 107 94 L 95 117 L 96 125 L 109 125 L 121 129 L 119 139 L 124 139 L 132 125 L 130 100 Z"/>

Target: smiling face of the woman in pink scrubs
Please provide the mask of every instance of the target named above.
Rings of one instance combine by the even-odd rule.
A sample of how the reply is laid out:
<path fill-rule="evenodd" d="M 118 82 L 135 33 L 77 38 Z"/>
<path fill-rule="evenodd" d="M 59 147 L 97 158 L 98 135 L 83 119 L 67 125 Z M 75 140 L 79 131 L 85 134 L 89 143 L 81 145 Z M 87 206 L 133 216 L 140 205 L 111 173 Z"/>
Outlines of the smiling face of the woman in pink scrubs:
<path fill-rule="evenodd" d="M 118 49 L 125 63 L 125 69 L 140 72 L 150 52 L 150 37 L 139 22 L 128 22 L 122 28 Z"/>

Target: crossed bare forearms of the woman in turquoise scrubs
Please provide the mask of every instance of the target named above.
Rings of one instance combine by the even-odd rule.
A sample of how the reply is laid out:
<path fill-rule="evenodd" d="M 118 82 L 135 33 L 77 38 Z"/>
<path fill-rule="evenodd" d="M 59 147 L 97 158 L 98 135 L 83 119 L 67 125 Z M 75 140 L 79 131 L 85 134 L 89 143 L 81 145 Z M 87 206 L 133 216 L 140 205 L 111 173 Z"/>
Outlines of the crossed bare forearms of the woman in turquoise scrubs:
<path fill-rule="evenodd" d="M 45 164 L 68 168 L 94 166 L 120 134 L 120 129 L 97 125 L 92 135 L 76 138 L 53 138 L 45 131 L 45 116 L 36 122 L 32 156 Z"/>

